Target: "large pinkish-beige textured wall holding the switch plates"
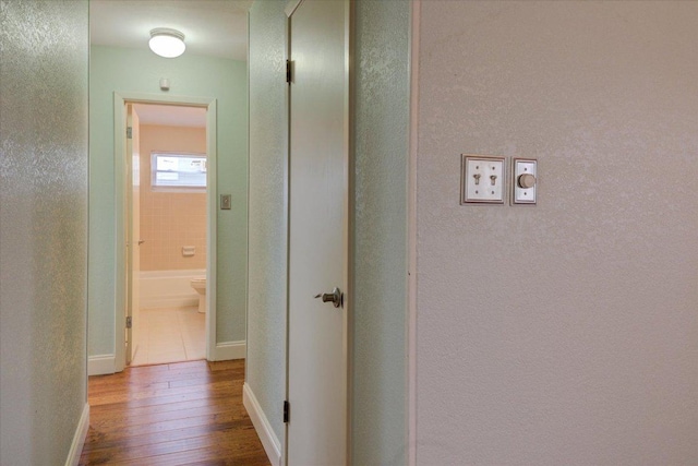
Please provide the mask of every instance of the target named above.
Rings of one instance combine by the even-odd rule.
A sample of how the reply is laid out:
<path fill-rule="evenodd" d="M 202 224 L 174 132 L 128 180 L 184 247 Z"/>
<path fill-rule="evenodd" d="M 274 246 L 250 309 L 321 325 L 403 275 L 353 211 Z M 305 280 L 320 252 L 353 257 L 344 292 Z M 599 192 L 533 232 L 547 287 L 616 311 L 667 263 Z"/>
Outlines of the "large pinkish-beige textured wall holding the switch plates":
<path fill-rule="evenodd" d="M 421 3 L 418 463 L 695 464 L 698 3 Z M 539 159 L 458 205 L 459 154 Z"/>

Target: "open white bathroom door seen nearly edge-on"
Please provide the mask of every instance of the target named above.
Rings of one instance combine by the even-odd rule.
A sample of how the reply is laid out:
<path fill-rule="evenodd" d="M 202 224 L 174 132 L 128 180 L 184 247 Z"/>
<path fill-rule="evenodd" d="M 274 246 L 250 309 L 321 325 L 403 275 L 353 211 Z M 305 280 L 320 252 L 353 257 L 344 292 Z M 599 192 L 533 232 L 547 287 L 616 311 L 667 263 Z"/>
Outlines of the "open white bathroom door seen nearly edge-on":
<path fill-rule="evenodd" d="M 139 301 L 141 275 L 141 155 L 140 155 L 140 121 L 128 104 L 127 128 L 131 128 L 131 138 L 127 138 L 127 319 L 131 319 L 131 326 L 127 326 L 127 365 L 133 361 L 139 350 Z"/>

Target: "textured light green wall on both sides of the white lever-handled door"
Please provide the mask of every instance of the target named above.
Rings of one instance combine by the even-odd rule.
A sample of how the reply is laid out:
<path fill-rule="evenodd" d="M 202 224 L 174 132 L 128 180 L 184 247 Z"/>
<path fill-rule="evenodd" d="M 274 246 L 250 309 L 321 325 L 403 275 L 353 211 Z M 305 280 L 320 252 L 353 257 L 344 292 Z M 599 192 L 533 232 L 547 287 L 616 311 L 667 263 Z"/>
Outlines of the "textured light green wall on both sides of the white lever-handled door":
<path fill-rule="evenodd" d="M 250 11 L 250 309 L 246 381 L 284 442 L 286 0 Z M 354 4 L 356 252 L 352 455 L 406 463 L 409 1 Z"/>

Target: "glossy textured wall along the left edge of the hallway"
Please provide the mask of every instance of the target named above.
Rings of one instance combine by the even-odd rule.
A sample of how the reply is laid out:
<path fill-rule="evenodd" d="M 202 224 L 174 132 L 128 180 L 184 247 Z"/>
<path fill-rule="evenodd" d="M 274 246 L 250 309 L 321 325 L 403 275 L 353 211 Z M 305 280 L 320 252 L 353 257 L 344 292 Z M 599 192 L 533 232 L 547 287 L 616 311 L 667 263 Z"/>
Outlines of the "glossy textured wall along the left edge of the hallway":
<path fill-rule="evenodd" d="M 0 464 L 62 465 L 87 397 L 87 2 L 0 9 Z"/>

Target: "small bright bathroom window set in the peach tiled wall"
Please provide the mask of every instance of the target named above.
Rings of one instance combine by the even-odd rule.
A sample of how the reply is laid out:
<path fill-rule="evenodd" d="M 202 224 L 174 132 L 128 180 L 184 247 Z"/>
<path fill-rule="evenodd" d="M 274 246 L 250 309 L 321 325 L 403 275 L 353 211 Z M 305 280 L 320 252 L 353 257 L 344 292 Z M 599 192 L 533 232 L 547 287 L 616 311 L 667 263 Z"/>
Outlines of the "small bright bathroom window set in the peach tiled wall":
<path fill-rule="evenodd" d="M 154 191 L 169 189 L 206 190 L 206 155 L 151 154 L 151 187 Z"/>

